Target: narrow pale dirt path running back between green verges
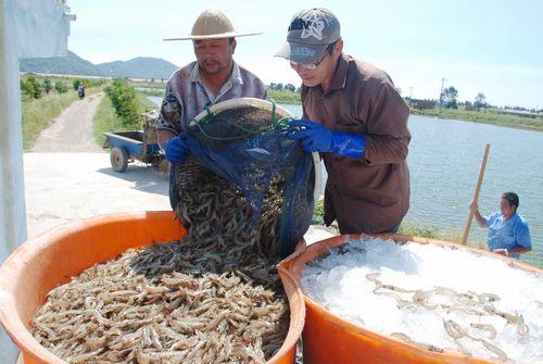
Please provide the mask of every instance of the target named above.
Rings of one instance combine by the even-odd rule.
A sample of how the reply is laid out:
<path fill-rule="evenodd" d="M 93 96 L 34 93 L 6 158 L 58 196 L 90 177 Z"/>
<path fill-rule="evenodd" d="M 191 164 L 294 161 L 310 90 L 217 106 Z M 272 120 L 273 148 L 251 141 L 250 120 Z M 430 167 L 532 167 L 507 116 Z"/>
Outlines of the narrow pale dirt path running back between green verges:
<path fill-rule="evenodd" d="M 92 138 L 92 116 L 103 93 L 74 101 L 51 126 L 43 129 L 33 152 L 102 152 Z"/>

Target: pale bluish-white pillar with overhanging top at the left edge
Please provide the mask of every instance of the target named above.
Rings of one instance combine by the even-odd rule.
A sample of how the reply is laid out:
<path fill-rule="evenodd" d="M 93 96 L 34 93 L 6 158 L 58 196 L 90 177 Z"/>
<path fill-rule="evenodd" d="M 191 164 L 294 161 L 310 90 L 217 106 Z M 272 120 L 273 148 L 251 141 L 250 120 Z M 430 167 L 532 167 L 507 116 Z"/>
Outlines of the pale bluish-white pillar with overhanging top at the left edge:
<path fill-rule="evenodd" d="M 26 239 L 18 59 L 66 55 L 67 12 L 59 0 L 0 0 L 0 262 Z M 0 363 L 16 355 L 0 328 Z"/>

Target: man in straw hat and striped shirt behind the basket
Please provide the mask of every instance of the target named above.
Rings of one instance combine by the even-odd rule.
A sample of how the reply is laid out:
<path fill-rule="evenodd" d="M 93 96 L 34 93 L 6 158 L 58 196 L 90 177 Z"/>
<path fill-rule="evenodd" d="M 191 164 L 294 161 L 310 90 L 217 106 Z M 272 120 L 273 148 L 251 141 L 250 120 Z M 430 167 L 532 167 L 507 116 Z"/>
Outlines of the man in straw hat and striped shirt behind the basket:
<path fill-rule="evenodd" d="M 197 57 L 195 62 L 176 71 L 169 78 L 156 127 L 159 145 L 172 163 L 169 202 L 173 209 L 179 202 L 176 170 L 181 167 L 180 163 L 190 152 L 184 137 L 190 121 L 205 106 L 220 101 L 242 97 L 266 98 L 261 79 L 232 59 L 236 37 L 257 34 L 236 32 L 225 14 L 206 10 L 194 22 L 190 35 L 164 39 L 192 40 Z"/>

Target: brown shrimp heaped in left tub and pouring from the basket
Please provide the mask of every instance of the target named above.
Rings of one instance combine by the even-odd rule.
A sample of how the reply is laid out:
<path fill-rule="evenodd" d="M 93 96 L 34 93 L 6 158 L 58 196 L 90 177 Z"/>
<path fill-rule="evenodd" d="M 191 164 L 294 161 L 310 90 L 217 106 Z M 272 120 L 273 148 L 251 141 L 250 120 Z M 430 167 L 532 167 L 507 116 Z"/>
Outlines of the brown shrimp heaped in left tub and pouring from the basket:
<path fill-rule="evenodd" d="M 180 241 L 130 249 L 48 294 L 35 339 L 68 363 L 265 363 L 290 313 L 280 279 L 280 184 L 253 224 L 245 200 L 215 176 L 184 190 Z"/>

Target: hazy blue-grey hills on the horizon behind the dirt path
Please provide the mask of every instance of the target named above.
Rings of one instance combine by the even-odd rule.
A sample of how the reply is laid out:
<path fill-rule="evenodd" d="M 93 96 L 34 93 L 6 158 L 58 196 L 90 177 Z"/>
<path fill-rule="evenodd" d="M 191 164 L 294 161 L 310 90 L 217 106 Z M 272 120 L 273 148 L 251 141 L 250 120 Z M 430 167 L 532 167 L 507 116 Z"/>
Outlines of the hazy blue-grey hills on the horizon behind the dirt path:
<path fill-rule="evenodd" d="M 150 57 L 93 64 L 72 51 L 68 51 L 67 57 L 21 60 L 21 72 L 62 75 L 168 78 L 177 68 L 178 66 L 163 59 Z"/>

